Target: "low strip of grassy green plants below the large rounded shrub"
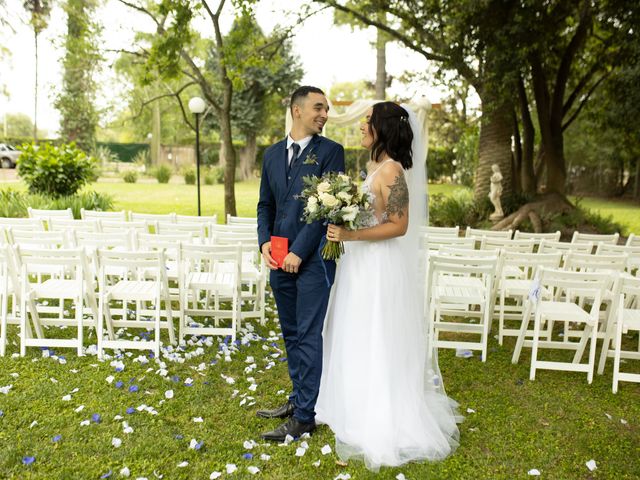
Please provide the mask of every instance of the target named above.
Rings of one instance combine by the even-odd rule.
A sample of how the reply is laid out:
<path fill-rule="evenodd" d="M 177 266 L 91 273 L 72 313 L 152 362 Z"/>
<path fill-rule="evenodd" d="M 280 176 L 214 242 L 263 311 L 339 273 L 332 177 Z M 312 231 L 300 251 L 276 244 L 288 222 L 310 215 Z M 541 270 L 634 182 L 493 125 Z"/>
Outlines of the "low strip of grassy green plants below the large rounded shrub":
<path fill-rule="evenodd" d="M 2 217 L 27 217 L 27 207 L 46 210 L 71 208 L 75 218 L 80 218 L 81 208 L 102 211 L 113 209 L 113 198 L 110 195 L 97 192 L 82 192 L 76 195 L 53 198 L 8 188 L 0 190 L 0 202 L 0 216 Z"/>

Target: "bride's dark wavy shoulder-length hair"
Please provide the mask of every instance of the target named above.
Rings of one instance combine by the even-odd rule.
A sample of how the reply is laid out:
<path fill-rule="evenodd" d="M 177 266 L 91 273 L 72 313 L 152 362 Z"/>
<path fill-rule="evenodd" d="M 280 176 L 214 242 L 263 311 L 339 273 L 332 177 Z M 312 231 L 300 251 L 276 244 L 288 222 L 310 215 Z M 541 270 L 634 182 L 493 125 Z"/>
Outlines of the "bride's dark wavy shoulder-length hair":
<path fill-rule="evenodd" d="M 375 140 L 371 146 L 371 158 L 379 162 L 383 154 L 402 164 L 405 170 L 413 166 L 411 142 L 413 132 L 409 114 L 394 102 L 380 102 L 373 106 L 369 126 Z"/>

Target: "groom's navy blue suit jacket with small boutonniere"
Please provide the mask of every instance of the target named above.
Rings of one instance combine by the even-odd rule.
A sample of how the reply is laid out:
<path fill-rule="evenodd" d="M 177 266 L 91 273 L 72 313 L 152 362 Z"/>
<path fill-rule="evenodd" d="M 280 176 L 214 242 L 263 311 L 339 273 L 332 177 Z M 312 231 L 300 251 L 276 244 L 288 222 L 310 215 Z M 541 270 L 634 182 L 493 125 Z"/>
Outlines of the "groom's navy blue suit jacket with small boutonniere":
<path fill-rule="evenodd" d="M 318 250 L 325 235 L 322 222 L 302 220 L 304 205 L 297 199 L 302 192 L 302 178 L 322 176 L 325 172 L 344 172 L 344 148 L 328 138 L 315 135 L 291 165 L 287 175 L 286 139 L 270 146 L 262 161 L 260 200 L 258 201 L 258 242 L 271 235 L 289 239 L 289 251 L 306 262 Z"/>

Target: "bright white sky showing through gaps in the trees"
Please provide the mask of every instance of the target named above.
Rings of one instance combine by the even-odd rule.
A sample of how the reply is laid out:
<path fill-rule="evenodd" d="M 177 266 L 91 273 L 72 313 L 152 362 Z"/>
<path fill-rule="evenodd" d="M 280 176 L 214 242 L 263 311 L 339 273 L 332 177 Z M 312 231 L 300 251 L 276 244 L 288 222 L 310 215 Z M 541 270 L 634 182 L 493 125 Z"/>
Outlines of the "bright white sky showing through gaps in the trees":
<path fill-rule="evenodd" d="M 230 2 L 228 2 L 230 3 Z M 299 2 L 302 3 L 302 2 Z M 291 0 L 262 0 L 256 11 L 256 18 L 265 32 L 270 32 L 277 24 L 288 25 L 294 22 L 291 13 Z M 34 114 L 34 41 L 33 31 L 27 23 L 28 16 L 24 12 L 21 0 L 8 0 L 9 21 L 11 29 L 2 27 L 0 45 L 11 52 L 8 57 L 0 58 L 0 87 L 4 84 L 9 98 L 0 95 L 0 121 L 5 112 L 22 112 L 33 118 Z M 223 17 L 223 29 L 231 25 L 230 6 Z M 142 14 L 122 5 L 117 0 L 105 0 L 99 10 L 102 18 L 102 48 L 117 50 L 131 48 L 135 30 L 151 30 L 150 21 Z M 349 27 L 335 26 L 333 14 L 326 10 L 309 18 L 296 28 L 292 44 L 294 51 L 300 56 L 305 76 L 303 83 L 312 84 L 328 90 L 337 82 L 375 79 L 376 53 L 372 46 L 375 39 L 373 28 L 352 31 Z M 53 100 L 59 92 L 61 84 L 61 58 L 64 54 L 66 19 L 60 7 L 54 8 L 48 28 L 39 39 L 39 106 L 38 127 L 55 135 L 59 127 L 59 115 L 53 107 Z M 202 19 L 197 28 L 210 36 L 212 27 Z M 107 64 L 100 82 L 102 91 L 98 96 L 99 107 L 113 108 L 114 93 L 122 92 L 127 86 L 121 83 L 110 69 L 115 58 L 114 53 L 106 53 Z M 421 55 L 398 44 L 387 47 L 387 72 L 398 76 L 410 68 L 413 71 L 424 71 L 427 61 Z M 396 87 L 397 88 L 397 87 Z M 431 102 L 437 102 L 442 93 L 427 85 L 414 86 L 416 92 L 426 95 Z M 412 92 L 413 93 L 413 92 Z M 404 91 L 394 91 L 388 95 L 406 96 Z"/>

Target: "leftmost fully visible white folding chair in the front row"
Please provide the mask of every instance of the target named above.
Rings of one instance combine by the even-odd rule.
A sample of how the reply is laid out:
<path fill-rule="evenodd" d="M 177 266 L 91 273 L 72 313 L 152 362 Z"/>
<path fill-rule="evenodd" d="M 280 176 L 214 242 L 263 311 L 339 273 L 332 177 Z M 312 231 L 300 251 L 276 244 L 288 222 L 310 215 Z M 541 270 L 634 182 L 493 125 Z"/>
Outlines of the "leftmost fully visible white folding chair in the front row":
<path fill-rule="evenodd" d="M 26 354 L 27 347 L 72 347 L 76 348 L 78 355 L 81 356 L 85 321 L 95 325 L 95 316 L 98 313 L 93 284 L 87 275 L 89 268 L 84 251 L 82 249 L 17 247 L 16 252 L 22 268 L 20 273 L 20 355 Z M 54 312 L 57 316 L 45 317 L 46 312 L 40 313 L 39 323 L 44 326 L 75 326 L 76 338 L 31 337 L 30 330 L 27 328 L 29 322 L 27 317 L 28 313 L 33 311 L 27 309 L 27 303 L 40 299 L 59 300 L 60 308 Z M 64 305 L 65 300 L 72 302 L 73 317 L 67 314 L 71 309 L 68 305 Z M 84 319 L 85 305 L 94 316 L 92 320 Z M 42 310 L 41 308 L 40 312 Z M 32 320 L 35 319 L 32 318 Z"/>

